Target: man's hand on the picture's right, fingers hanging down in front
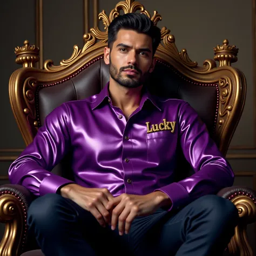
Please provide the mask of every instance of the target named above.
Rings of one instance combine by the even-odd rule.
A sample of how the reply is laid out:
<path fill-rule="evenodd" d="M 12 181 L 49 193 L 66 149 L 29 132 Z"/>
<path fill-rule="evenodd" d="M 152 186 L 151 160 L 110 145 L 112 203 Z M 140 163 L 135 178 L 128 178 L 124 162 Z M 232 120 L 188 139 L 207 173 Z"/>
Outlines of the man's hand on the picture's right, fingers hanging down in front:
<path fill-rule="evenodd" d="M 114 230 L 117 226 L 119 234 L 123 235 L 124 230 L 127 234 L 131 223 L 137 216 L 149 215 L 155 212 L 159 207 L 170 205 L 170 198 L 161 191 L 156 191 L 145 196 L 134 194 L 121 194 L 107 203 L 106 210 L 112 210 L 111 228 Z"/>

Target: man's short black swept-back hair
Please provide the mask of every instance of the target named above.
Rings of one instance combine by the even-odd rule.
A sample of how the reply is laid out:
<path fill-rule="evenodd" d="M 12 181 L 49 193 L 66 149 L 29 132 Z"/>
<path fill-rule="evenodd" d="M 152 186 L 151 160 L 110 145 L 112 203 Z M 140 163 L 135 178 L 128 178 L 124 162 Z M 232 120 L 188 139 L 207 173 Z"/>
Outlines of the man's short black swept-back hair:
<path fill-rule="evenodd" d="M 113 19 L 108 28 L 108 47 L 112 48 L 112 43 L 117 39 L 120 29 L 131 29 L 138 33 L 144 33 L 152 38 L 153 56 L 161 41 L 161 31 L 154 25 L 149 17 L 137 12 L 119 15 Z"/>

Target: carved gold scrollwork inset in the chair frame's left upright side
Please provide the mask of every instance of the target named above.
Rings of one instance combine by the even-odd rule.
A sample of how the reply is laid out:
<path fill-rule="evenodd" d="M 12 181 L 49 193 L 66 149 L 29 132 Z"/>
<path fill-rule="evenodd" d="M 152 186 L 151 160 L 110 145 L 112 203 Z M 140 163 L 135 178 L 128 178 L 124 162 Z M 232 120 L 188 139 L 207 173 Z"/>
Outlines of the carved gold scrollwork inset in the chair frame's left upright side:
<path fill-rule="evenodd" d="M 23 97 L 26 103 L 26 107 L 23 110 L 26 115 L 26 120 L 32 122 L 35 126 L 38 126 L 36 120 L 35 111 L 35 92 L 37 87 L 37 80 L 34 77 L 26 78 L 23 86 Z"/>

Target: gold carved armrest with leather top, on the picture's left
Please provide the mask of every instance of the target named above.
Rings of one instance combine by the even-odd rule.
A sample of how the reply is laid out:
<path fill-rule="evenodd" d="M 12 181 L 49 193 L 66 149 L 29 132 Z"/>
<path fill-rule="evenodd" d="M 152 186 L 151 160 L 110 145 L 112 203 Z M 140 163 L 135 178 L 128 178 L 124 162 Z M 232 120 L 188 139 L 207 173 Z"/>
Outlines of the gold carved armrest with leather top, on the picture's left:
<path fill-rule="evenodd" d="M 0 256 L 17 256 L 23 252 L 28 234 L 26 217 L 32 199 L 24 186 L 0 186 L 0 221 L 5 223 Z"/>

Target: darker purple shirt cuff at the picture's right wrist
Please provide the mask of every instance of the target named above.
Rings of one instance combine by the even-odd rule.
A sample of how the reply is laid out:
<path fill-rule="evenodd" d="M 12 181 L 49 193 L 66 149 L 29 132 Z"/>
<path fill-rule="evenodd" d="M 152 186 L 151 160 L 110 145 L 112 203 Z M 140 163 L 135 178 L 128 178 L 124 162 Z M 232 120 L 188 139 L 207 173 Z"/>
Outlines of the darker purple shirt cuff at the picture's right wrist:
<path fill-rule="evenodd" d="M 171 207 L 167 211 L 178 210 L 181 206 L 189 203 L 190 195 L 179 183 L 172 183 L 154 191 L 161 191 L 167 194 L 172 201 Z"/>

